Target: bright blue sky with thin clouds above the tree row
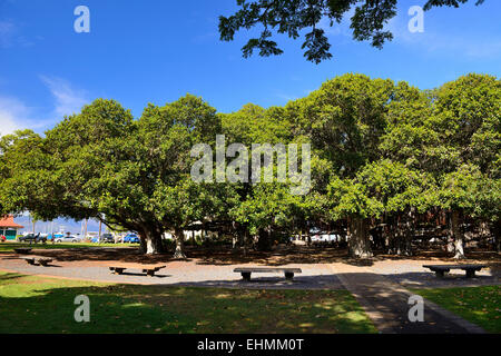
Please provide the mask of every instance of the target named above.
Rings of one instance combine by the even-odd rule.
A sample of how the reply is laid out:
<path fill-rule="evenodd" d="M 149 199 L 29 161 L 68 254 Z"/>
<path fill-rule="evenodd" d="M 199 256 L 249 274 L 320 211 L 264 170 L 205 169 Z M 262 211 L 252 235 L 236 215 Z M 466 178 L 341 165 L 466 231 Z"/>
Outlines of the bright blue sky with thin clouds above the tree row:
<path fill-rule="evenodd" d="M 500 76 L 501 1 L 425 13 L 411 33 L 411 6 L 401 0 L 383 50 L 351 39 L 348 22 L 327 28 L 334 58 L 306 61 L 301 41 L 277 37 L 285 53 L 244 59 L 253 32 L 219 41 L 219 14 L 236 0 L 0 0 L 0 132 L 52 127 L 96 98 L 112 98 L 140 116 L 187 92 L 222 112 L 247 102 L 282 106 L 346 72 L 433 88 L 468 72 Z M 90 33 L 76 33 L 73 9 L 90 9 Z M 255 33 L 255 32 L 254 32 Z"/>

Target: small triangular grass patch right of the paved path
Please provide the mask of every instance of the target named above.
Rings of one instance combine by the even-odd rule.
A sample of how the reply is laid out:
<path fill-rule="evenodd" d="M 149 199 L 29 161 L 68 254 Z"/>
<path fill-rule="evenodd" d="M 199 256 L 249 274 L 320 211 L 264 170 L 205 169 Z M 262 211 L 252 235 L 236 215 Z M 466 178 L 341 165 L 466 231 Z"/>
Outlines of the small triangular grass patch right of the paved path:
<path fill-rule="evenodd" d="M 414 289 L 490 333 L 501 333 L 501 286 Z"/>

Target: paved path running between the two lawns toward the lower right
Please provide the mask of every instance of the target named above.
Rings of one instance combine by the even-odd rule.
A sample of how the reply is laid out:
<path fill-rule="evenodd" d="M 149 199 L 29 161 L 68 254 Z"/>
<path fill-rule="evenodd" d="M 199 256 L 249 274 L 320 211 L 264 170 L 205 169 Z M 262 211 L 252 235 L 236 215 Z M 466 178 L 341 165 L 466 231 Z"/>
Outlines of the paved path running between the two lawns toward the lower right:
<path fill-rule="evenodd" d="M 412 293 L 366 267 L 331 265 L 333 273 L 363 306 L 381 333 L 399 334 L 471 334 L 484 333 L 452 313 L 424 300 L 424 322 L 409 320 Z"/>

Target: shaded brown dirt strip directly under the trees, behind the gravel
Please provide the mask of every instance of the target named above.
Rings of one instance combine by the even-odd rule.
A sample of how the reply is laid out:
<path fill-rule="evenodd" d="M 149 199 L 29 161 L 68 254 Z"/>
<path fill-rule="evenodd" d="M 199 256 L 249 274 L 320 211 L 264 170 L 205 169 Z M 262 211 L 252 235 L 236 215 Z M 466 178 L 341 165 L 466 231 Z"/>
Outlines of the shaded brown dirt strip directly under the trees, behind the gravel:
<path fill-rule="evenodd" d="M 10 245 L 6 250 L 3 245 Z M 3 244 L 0 245 L 0 257 L 12 258 L 12 248 L 19 246 L 29 246 L 27 244 Z M 17 246 L 19 245 L 19 246 Z M 78 244 L 75 244 L 78 245 Z M 173 251 L 165 255 L 147 256 L 140 254 L 136 247 L 114 247 L 92 246 L 75 248 L 73 245 L 33 245 L 31 255 L 51 257 L 59 261 L 120 261 L 131 264 L 159 264 L 175 261 Z M 69 248 L 71 247 L 71 248 Z M 455 263 L 453 255 L 439 248 L 420 250 L 414 256 L 394 256 L 375 250 L 375 256 L 371 259 L 353 259 L 348 257 L 346 248 L 321 247 L 321 246 L 285 246 L 278 245 L 272 251 L 249 250 L 245 256 L 242 250 L 234 250 L 230 247 L 186 247 L 186 255 L 189 257 L 186 261 L 196 260 L 198 265 L 230 266 L 243 264 L 256 264 L 265 266 L 285 266 L 292 264 L 314 265 L 344 263 L 353 266 L 372 266 L 376 261 L 384 260 L 438 260 Z M 487 250 L 468 250 L 468 260 L 465 263 L 500 263 L 499 253 Z"/>

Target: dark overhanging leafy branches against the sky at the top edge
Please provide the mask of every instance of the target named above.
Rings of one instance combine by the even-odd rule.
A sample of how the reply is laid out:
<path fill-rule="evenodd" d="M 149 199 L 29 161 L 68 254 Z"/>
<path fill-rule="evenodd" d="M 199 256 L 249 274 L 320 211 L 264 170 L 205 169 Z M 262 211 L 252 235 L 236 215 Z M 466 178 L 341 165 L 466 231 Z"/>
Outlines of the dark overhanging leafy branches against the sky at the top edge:
<path fill-rule="evenodd" d="M 469 0 L 429 0 L 424 10 L 434 7 L 455 7 Z M 331 59 L 328 42 L 322 21 L 330 27 L 341 23 L 350 11 L 353 39 L 370 41 L 375 48 L 382 48 L 393 34 L 384 26 L 396 14 L 397 0 L 237 0 L 239 10 L 229 17 L 219 17 L 219 33 L 224 41 L 233 41 L 240 29 L 252 29 L 262 26 L 261 36 L 252 38 L 242 48 L 245 58 L 255 50 L 262 57 L 282 55 L 283 50 L 272 40 L 273 32 L 297 39 L 304 32 L 302 49 L 304 57 L 320 63 Z M 483 0 L 477 0 L 475 4 Z"/>

